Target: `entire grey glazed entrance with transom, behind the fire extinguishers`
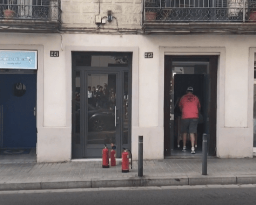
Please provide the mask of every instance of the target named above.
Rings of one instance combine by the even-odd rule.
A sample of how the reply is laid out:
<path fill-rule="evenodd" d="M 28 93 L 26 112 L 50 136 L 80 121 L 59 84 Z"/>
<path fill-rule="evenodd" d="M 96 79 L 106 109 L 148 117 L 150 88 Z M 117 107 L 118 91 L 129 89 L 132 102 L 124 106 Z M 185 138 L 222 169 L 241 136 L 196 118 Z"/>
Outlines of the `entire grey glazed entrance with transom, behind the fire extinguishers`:
<path fill-rule="evenodd" d="M 132 54 L 73 52 L 72 158 L 131 148 Z"/>

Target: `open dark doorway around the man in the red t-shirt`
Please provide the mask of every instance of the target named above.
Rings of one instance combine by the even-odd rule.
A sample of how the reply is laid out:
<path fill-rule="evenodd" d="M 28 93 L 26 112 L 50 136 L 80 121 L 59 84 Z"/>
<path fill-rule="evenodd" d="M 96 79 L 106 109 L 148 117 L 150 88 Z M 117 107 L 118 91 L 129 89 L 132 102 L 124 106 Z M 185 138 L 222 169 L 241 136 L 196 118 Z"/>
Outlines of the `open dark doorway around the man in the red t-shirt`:
<path fill-rule="evenodd" d="M 208 154 L 216 155 L 216 86 L 217 57 L 215 56 L 165 56 L 164 86 L 164 156 L 201 157 L 202 136 L 209 134 Z M 198 123 L 196 154 L 182 152 L 180 98 L 189 86 L 201 104 L 203 120 Z M 191 149 L 190 137 L 186 146 Z M 180 146 L 178 146 L 180 145 Z"/>

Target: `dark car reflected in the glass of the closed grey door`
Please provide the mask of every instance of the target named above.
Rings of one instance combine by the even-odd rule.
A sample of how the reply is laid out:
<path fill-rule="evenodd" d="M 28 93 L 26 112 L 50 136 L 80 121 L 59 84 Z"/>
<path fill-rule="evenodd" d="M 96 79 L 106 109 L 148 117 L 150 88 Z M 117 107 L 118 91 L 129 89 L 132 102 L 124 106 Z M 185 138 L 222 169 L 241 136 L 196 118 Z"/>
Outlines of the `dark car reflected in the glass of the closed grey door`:
<path fill-rule="evenodd" d="M 87 115 L 88 115 L 88 132 L 102 132 L 102 131 L 113 130 L 115 128 L 115 113 L 113 110 L 96 108 L 88 104 Z M 76 104 L 76 126 L 79 126 L 79 124 L 80 124 L 80 105 Z"/>

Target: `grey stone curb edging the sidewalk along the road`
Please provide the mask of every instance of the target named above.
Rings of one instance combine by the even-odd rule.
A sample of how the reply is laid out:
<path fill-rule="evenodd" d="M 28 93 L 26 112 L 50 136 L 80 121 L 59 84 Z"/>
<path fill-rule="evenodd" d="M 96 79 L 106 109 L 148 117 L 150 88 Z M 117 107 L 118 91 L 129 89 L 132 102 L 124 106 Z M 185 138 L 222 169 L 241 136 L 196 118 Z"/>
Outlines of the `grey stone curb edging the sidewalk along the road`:
<path fill-rule="evenodd" d="M 0 191 L 45 190 L 45 189 L 77 189 L 77 188 L 113 188 L 132 186 L 183 186 L 212 184 L 256 184 L 256 175 L 227 176 L 163 176 L 163 177 L 123 177 L 94 178 L 85 181 L 45 181 L 28 183 L 0 183 Z"/>

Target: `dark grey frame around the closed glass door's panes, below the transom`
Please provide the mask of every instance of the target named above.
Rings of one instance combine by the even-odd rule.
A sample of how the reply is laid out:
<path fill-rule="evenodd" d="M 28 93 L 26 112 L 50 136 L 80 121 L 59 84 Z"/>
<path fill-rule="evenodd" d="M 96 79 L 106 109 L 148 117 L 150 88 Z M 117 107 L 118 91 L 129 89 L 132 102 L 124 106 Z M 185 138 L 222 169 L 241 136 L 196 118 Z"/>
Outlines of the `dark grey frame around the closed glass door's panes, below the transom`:
<path fill-rule="evenodd" d="M 88 67 L 88 66 L 74 66 L 74 69 L 72 70 L 72 158 L 89 158 L 86 156 L 86 137 L 85 134 L 87 132 L 87 126 L 81 126 L 81 125 L 87 125 L 87 119 L 85 119 L 85 115 L 87 111 L 85 111 L 86 108 L 81 106 L 81 113 L 85 113 L 85 114 L 81 114 L 83 116 L 80 116 L 80 140 L 79 143 L 76 143 L 76 136 L 75 136 L 75 76 L 76 76 L 76 72 L 80 71 L 80 93 L 83 93 L 83 99 L 82 97 L 80 98 L 80 103 L 81 105 L 87 105 L 87 82 L 85 80 L 85 78 L 87 78 L 87 74 L 88 73 L 106 73 L 106 74 L 116 74 L 117 75 L 117 79 L 116 79 L 116 86 L 117 89 L 119 90 L 119 99 L 116 99 L 118 101 L 118 105 L 120 105 L 119 108 L 119 119 L 120 119 L 120 123 L 119 123 L 119 128 L 118 128 L 118 133 L 116 134 L 116 157 L 121 157 L 121 151 L 122 151 L 122 146 L 124 148 L 128 148 L 131 150 L 131 133 L 132 133 L 132 70 L 130 67 L 128 68 L 124 68 L 124 67 L 115 67 L 115 68 L 106 68 L 106 67 Z M 123 89 L 124 89 L 124 79 L 122 79 L 124 77 L 124 73 L 128 72 L 128 143 L 127 144 L 123 144 L 123 103 L 124 103 L 124 99 L 123 99 Z M 84 79 L 82 79 L 84 78 Z M 122 96 L 122 97 L 121 97 Z M 121 121 L 122 120 L 122 121 Z M 94 146 L 90 146 L 90 147 L 94 147 Z M 97 146 L 95 146 L 97 147 Z M 103 149 L 103 144 L 102 147 Z M 110 148 L 110 146 L 108 145 L 108 148 Z"/>

